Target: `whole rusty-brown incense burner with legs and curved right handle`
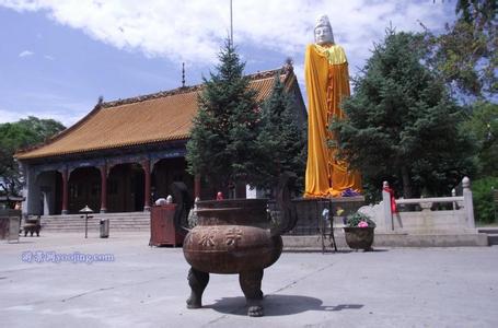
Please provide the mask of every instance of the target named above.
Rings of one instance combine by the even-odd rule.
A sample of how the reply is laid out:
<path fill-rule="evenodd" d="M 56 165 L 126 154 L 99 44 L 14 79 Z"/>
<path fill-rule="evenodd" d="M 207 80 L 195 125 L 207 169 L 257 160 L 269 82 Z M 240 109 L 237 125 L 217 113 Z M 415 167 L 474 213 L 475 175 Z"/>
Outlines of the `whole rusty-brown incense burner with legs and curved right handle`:
<path fill-rule="evenodd" d="M 209 273 L 239 274 L 248 316 L 263 315 L 263 270 L 277 261 L 282 251 L 281 234 L 296 225 L 289 185 L 293 176 L 280 178 L 277 213 L 271 223 L 266 199 L 231 199 L 197 202 L 197 225 L 185 237 L 183 251 L 190 265 L 188 308 L 202 306 L 201 297 Z"/>

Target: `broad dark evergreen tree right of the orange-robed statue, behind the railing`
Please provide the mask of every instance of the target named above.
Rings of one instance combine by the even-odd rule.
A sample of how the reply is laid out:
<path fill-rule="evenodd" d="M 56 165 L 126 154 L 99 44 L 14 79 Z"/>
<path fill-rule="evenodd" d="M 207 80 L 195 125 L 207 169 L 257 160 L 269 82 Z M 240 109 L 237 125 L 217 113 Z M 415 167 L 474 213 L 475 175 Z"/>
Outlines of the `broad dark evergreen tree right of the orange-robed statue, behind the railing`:
<path fill-rule="evenodd" d="M 347 118 L 331 125 L 339 155 L 377 194 L 389 180 L 404 197 L 448 195 L 472 168 L 471 142 L 459 129 L 461 108 L 424 65 L 424 35 L 387 30 L 375 45 L 355 93 L 343 103 Z"/>

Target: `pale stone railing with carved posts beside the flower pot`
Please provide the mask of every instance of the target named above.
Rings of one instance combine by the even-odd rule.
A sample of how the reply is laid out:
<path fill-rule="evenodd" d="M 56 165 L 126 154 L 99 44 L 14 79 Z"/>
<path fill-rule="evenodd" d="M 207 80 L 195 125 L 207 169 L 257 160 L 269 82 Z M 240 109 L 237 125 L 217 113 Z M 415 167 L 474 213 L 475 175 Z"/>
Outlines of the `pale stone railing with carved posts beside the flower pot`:
<path fill-rule="evenodd" d="M 385 186 L 384 186 L 385 187 Z M 475 233 L 471 180 L 462 179 L 463 195 L 452 197 L 396 199 L 399 209 L 392 212 L 391 194 L 382 190 L 382 201 L 360 208 L 377 223 L 378 232 L 385 233 Z M 394 200 L 394 199 L 393 199 Z M 437 203 L 452 203 L 449 210 L 432 210 Z M 407 210 L 418 204 L 417 210 Z M 418 210 L 418 208 L 420 210 Z"/>

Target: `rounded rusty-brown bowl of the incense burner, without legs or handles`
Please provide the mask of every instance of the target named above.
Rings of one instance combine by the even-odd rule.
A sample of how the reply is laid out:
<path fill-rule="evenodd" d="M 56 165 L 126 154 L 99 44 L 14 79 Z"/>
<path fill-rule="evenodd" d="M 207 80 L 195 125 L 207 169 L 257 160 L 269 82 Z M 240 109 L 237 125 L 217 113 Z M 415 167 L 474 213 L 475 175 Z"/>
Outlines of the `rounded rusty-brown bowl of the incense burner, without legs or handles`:
<path fill-rule="evenodd" d="M 211 273 L 258 271 L 280 256 L 282 239 L 271 236 L 266 199 L 197 202 L 197 225 L 184 241 L 196 270 Z"/>

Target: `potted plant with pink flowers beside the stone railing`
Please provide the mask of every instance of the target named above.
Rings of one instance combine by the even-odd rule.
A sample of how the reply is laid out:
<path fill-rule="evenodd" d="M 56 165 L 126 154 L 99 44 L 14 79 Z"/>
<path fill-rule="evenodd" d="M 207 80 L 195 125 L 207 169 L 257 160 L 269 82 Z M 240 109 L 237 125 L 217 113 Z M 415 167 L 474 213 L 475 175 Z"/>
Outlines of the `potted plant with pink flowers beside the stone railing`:
<path fill-rule="evenodd" d="M 344 227 L 346 243 L 352 249 L 372 250 L 375 222 L 369 215 L 356 212 L 346 218 Z"/>

